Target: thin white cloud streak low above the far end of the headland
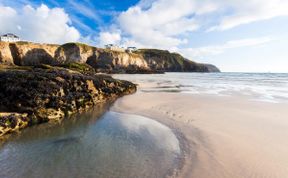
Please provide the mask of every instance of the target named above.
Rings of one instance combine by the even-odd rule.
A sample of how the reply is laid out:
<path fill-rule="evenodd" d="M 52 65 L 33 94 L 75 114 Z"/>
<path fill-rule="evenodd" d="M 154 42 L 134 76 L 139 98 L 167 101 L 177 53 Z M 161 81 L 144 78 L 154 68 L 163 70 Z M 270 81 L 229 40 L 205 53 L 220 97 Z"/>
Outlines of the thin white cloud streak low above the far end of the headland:
<path fill-rule="evenodd" d="M 273 39 L 270 37 L 260 37 L 260 38 L 249 38 L 241 40 L 228 41 L 220 45 L 205 46 L 199 48 L 184 48 L 178 49 L 177 51 L 184 54 L 184 56 L 191 59 L 202 58 L 206 56 L 218 55 L 224 53 L 226 50 L 241 48 L 241 47 L 252 47 L 259 46 L 271 42 Z"/>

